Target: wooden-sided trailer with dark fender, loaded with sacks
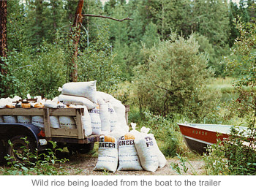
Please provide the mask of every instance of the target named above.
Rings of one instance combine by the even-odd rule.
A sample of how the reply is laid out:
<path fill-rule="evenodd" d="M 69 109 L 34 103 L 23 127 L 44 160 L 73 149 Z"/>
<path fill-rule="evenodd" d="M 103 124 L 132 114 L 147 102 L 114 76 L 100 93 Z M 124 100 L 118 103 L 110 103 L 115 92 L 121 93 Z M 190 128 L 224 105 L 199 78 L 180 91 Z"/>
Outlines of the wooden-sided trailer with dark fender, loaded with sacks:
<path fill-rule="evenodd" d="M 49 141 L 57 142 L 60 148 L 67 147 L 69 151 L 88 153 L 94 148 L 94 142 L 99 141 L 99 135 L 86 137 L 81 120 L 83 114 L 84 108 L 1 108 L 0 115 L 42 116 L 44 127 L 31 123 L 0 123 L 0 161 L 7 154 L 21 160 L 19 155 L 22 155 L 23 147 L 42 151 L 49 148 Z M 50 127 L 51 115 L 76 117 L 76 129 Z"/>

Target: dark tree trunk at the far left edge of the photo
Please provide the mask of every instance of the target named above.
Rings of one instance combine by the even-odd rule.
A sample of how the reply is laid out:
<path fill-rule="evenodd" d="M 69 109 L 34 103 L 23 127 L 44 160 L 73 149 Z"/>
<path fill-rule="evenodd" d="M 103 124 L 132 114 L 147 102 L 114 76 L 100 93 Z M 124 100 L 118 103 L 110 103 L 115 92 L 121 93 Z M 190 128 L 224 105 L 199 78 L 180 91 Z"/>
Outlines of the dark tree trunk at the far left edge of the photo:
<path fill-rule="evenodd" d="M 0 1 L 0 72 L 5 76 L 7 69 L 1 57 L 7 57 L 7 1 Z"/>

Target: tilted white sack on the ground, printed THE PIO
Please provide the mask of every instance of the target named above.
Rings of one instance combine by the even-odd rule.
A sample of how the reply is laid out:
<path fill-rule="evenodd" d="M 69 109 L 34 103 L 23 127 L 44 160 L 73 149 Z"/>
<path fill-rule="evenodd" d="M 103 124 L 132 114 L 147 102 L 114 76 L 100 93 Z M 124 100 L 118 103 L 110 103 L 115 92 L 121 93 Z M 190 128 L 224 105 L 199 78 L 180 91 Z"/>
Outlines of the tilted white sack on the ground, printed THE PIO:
<path fill-rule="evenodd" d="M 155 172 L 159 166 L 154 141 L 148 134 L 140 133 L 135 137 L 135 147 L 144 170 Z"/>

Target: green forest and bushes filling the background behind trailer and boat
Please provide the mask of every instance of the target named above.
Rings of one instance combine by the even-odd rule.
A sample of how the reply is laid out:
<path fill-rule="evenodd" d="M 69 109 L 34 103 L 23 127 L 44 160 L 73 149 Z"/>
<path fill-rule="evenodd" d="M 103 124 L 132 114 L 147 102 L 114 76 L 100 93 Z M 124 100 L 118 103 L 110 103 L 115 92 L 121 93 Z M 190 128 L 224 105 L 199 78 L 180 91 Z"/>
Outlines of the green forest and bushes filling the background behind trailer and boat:
<path fill-rule="evenodd" d="M 70 81 L 77 6 L 7 1 L 1 97 L 59 96 L 58 88 Z M 78 81 L 97 80 L 98 91 L 129 104 L 129 122 L 150 127 L 166 156 L 187 150 L 178 122 L 241 125 L 255 113 L 248 103 L 253 98 L 241 96 L 255 97 L 254 0 L 110 0 L 104 6 L 86 0 L 83 14 L 133 19 L 83 18 Z M 248 107 L 236 104 L 242 100 Z"/>

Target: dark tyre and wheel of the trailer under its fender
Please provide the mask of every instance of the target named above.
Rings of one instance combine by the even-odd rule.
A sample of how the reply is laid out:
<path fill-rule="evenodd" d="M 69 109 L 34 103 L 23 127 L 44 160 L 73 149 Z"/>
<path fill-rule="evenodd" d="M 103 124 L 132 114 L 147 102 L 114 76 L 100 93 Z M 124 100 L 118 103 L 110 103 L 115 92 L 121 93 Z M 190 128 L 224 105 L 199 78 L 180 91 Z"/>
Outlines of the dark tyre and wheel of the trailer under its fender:
<path fill-rule="evenodd" d="M 33 153 L 35 150 L 35 142 L 31 140 L 29 137 L 25 137 L 23 135 L 18 135 L 15 137 L 12 137 L 11 145 L 8 145 L 7 153 L 11 157 L 11 161 L 31 161 L 32 159 L 28 158 L 28 153 Z M 27 142 L 26 142 L 27 141 Z"/>

